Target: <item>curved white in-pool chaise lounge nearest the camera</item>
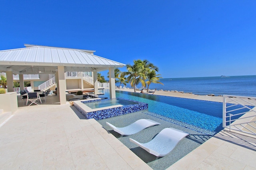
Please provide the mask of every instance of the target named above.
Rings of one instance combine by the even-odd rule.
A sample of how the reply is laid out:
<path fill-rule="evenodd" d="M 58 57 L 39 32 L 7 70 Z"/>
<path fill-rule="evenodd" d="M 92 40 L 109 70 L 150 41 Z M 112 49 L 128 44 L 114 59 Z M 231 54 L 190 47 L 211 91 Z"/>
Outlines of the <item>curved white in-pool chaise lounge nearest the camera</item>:
<path fill-rule="evenodd" d="M 135 143 L 155 156 L 165 156 L 187 135 L 189 134 L 178 129 L 165 128 L 148 143 L 139 143 L 134 139 L 129 139 L 132 143 Z"/>

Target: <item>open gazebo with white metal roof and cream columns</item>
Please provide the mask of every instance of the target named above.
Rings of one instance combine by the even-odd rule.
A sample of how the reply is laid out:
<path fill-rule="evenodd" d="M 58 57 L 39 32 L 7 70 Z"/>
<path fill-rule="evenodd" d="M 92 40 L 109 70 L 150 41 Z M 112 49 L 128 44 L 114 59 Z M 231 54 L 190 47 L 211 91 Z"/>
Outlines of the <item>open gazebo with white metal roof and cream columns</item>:
<path fill-rule="evenodd" d="M 65 72 L 93 72 L 94 92 L 98 90 L 97 72 L 109 70 L 110 98 L 116 98 L 114 69 L 125 64 L 93 54 L 95 51 L 24 44 L 25 48 L 0 51 L 0 72 L 6 72 L 8 92 L 13 92 L 13 74 L 55 74 L 60 104 L 66 104 Z"/>

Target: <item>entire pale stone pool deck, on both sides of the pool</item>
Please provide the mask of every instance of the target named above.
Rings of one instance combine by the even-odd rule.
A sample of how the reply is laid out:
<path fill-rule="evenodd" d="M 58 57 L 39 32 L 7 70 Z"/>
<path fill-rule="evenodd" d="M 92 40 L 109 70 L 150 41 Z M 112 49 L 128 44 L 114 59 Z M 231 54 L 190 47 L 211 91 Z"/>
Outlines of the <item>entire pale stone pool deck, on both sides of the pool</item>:
<path fill-rule="evenodd" d="M 59 105 L 22 106 L 0 127 L 1 169 L 151 169 L 94 119 Z M 256 137 L 220 131 L 168 170 L 256 169 Z"/>

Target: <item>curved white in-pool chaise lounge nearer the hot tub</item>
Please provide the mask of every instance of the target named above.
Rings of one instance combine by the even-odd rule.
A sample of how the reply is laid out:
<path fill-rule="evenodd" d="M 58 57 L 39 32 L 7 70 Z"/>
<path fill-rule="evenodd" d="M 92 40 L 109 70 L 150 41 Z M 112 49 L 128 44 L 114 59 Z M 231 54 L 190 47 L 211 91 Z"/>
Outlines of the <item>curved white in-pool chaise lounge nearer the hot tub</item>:
<path fill-rule="evenodd" d="M 126 126 L 126 127 L 115 127 L 114 125 L 106 122 L 108 126 L 111 127 L 114 131 L 117 133 L 120 133 L 121 135 L 133 135 L 135 133 L 138 133 L 139 131 L 142 131 L 143 129 L 146 129 L 147 127 L 151 127 L 154 125 L 161 125 L 161 123 L 158 123 L 156 121 L 150 120 L 150 119 L 139 119 L 136 122 Z"/>

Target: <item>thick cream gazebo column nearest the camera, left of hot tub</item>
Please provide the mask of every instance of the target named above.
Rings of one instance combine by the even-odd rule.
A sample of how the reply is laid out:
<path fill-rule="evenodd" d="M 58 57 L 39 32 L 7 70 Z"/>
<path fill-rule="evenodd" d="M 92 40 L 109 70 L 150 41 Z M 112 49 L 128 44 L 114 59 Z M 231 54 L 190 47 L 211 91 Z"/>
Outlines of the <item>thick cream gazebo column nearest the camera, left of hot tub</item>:
<path fill-rule="evenodd" d="M 58 87 L 57 92 L 60 96 L 60 104 L 66 104 L 66 80 L 64 74 L 64 66 L 58 66 Z"/>

